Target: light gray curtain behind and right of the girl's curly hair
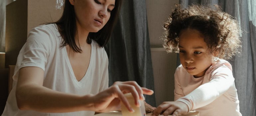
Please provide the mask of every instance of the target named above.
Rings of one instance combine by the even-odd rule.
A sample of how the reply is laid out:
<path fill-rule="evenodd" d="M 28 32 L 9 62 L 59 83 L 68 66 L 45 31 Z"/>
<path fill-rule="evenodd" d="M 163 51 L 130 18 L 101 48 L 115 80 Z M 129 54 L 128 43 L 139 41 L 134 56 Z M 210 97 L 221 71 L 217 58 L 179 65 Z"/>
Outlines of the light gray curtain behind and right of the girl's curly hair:
<path fill-rule="evenodd" d="M 255 0 L 180 0 L 184 7 L 192 3 L 218 4 L 235 17 L 241 26 L 241 54 L 229 60 L 243 116 L 256 116 L 256 1 Z"/>

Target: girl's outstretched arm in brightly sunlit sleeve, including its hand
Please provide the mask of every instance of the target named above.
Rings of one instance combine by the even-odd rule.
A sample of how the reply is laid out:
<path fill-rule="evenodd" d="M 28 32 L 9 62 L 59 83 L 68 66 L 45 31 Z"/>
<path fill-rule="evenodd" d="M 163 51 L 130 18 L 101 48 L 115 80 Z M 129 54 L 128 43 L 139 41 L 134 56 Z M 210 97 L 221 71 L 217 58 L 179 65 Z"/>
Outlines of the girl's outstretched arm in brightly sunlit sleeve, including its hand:
<path fill-rule="evenodd" d="M 192 109 L 197 109 L 211 103 L 233 85 L 234 78 L 232 71 L 226 66 L 219 67 L 211 76 L 210 82 L 197 87 L 188 95 L 176 101 L 163 102 L 154 111 L 153 116 L 158 116 L 161 113 L 163 115 L 172 114 L 173 116 L 186 114 Z M 179 83 L 177 83 L 178 78 L 175 79 L 176 89 L 177 87 L 179 88 Z M 181 95 L 180 90 L 181 89 L 175 90 L 176 96 Z"/>

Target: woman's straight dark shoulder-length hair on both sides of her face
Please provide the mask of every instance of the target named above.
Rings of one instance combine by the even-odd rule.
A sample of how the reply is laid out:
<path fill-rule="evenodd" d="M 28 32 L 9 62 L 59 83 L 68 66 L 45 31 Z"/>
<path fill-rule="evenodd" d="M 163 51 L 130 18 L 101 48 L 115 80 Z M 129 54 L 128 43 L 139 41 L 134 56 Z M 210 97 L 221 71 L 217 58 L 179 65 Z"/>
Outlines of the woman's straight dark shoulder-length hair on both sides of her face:
<path fill-rule="evenodd" d="M 98 32 L 89 32 L 86 40 L 88 44 L 91 43 L 91 39 L 95 40 L 101 47 L 103 47 L 108 42 L 114 28 L 114 24 L 118 18 L 121 4 L 122 0 L 115 0 L 115 8 L 111 11 L 108 22 Z M 79 46 L 79 41 L 78 46 L 75 42 L 77 27 L 75 21 L 74 6 L 70 4 L 69 0 L 65 0 L 62 17 L 54 23 L 57 24 L 58 30 L 63 37 L 63 42 L 60 47 L 69 45 L 73 51 L 81 53 L 82 50 Z"/>

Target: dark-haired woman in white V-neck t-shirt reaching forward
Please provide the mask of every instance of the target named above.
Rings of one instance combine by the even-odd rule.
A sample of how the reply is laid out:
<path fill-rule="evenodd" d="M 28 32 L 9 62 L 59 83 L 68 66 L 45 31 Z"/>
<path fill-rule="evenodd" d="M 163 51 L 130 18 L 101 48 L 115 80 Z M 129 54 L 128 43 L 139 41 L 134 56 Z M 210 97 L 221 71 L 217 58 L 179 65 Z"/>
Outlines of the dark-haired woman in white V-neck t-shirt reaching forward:
<path fill-rule="evenodd" d="M 152 94 L 136 82 L 108 88 L 103 45 L 120 5 L 121 0 L 66 0 L 59 21 L 32 29 L 2 116 L 91 116 L 118 110 L 120 101 L 132 112 L 123 93 L 131 92 L 137 106 L 143 93 Z"/>

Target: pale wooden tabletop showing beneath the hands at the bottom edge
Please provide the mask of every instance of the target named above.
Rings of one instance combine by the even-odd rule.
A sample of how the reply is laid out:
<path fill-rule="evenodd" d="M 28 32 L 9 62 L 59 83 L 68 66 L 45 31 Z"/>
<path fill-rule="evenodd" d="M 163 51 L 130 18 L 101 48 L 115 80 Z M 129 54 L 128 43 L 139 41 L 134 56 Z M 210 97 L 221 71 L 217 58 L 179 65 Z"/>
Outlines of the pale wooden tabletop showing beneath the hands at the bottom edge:
<path fill-rule="evenodd" d="M 146 114 L 146 116 L 151 116 L 151 114 L 152 113 L 148 113 L 148 114 Z M 121 111 L 118 111 L 118 112 L 117 111 L 113 111 L 113 112 L 96 114 L 95 116 L 122 116 L 122 112 Z M 172 115 L 169 115 L 169 116 L 172 116 Z M 199 112 L 197 112 L 197 111 L 190 111 L 188 114 L 180 115 L 180 116 L 199 116 Z"/>

